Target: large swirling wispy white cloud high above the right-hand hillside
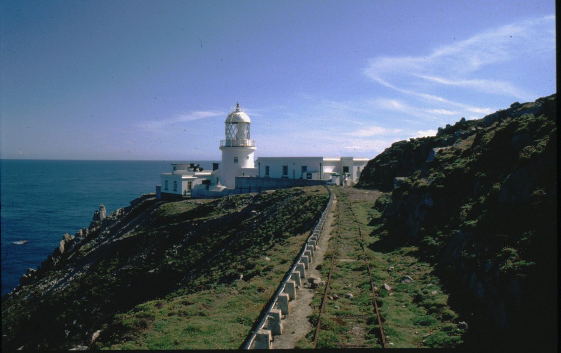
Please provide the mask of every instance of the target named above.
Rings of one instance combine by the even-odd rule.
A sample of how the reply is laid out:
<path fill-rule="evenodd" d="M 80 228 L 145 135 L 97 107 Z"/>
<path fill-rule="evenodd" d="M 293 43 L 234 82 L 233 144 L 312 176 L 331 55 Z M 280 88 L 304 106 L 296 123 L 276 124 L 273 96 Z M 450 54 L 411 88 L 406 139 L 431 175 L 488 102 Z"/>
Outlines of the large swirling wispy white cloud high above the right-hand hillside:
<path fill-rule="evenodd" d="M 425 104 L 426 112 L 463 113 L 458 112 L 460 109 L 489 113 L 492 109 L 488 107 L 457 102 L 448 91 L 462 88 L 476 94 L 534 99 L 532 93 L 514 84 L 515 74 L 505 74 L 502 66 L 551 51 L 555 51 L 555 16 L 545 16 L 496 27 L 422 56 L 376 57 L 370 60 L 364 74 L 419 100 Z"/>

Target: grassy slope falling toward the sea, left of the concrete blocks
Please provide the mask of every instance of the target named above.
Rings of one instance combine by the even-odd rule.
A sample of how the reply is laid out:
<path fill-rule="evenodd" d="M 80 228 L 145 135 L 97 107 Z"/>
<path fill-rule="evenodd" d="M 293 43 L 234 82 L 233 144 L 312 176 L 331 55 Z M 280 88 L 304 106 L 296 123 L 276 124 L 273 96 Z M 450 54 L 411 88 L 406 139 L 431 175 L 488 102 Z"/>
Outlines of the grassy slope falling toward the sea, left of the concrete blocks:
<path fill-rule="evenodd" d="M 238 348 L 325 187 L 105 210 L 2 298 L 2 348 Z"/>

